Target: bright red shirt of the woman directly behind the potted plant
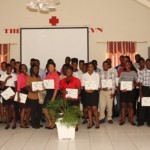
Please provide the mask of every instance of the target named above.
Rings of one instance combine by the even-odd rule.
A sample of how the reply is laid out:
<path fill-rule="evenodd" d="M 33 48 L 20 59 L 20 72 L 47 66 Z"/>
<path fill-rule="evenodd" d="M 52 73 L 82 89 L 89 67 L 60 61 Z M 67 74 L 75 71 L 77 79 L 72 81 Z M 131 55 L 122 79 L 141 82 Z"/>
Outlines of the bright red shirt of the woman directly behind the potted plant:
<path fill-rule="evenodd" d="M 81 82 L 76 77 L 72 76 L 71 79 L 70 79 L 69 84 L 67 84 L 66 81 L 67 81 L 67 77 L 60 80 L 60 82 L 59 82 L 60 90 L 66 90 L 67 88 L 69 88 L 69 89 L 79 89 L 81 87 Z M 63 93 L 63 98 L 66 99 L 65 97 L 66 97 L 66 93 Z M 79 99 L 79 97 L 76 100 L 78 100 L 78 99 Z"/>

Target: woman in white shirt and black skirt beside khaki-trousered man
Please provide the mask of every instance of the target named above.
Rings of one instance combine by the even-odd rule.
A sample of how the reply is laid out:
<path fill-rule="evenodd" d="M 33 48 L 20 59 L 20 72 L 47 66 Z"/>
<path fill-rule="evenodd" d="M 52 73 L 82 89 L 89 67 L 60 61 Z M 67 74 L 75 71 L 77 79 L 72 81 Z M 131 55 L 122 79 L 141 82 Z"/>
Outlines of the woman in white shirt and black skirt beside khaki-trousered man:
<path fill-rule="evenodd" d="M 99 118 L 98 118 L 98 101 L 99 101 L 99 74 L 94 71 L 95 65 L 90 62 L 88 64 L 87 73 L 83 74 L 82 86 L 85 88 L 86 105 L 88 109 L 89 125 L 88 129 L 93 126 L 93 114 L 95 117 L 96 129 L 99 128 Z"/>

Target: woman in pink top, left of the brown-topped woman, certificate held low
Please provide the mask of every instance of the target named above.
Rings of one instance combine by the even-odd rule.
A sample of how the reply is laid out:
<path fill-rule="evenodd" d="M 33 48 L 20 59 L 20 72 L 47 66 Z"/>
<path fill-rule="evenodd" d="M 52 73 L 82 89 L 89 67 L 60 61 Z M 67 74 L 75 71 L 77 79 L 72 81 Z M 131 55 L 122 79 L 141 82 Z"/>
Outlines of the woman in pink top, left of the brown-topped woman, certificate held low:
<path fill-rule="evenodd" d="M 27 74 L 27 66 L 22 64 L 20 66 L 20 74 L 18 74 L 17 78 L 17 92 L 18 92 L 18 102 L 20 103 L 21 113 L 20 113 L 20 128 L 28 128 L 28 126 L 24 123 L 25 112 L 26 112 L 26 102 L 22 101 L 21 95 L 28 94 L 28 89 L 26 87 L 26 82 L 28 78 Z M 28 118 L 28 117 L 27 117 Z M 26 120 L 26 124 L 29 124 Z"/>

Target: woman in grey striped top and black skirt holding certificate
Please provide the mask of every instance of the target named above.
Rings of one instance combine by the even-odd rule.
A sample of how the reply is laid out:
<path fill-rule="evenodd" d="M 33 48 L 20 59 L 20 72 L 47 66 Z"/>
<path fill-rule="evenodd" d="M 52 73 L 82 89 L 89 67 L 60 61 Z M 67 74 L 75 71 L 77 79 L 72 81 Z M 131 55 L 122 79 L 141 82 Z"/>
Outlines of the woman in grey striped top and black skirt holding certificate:
<path fill-rule="evenodd" d="M 128 107 L 129 122 L 136 125 L 134 118 L 133 104 L 135 101 L 135 86 L 138 82 L 137 73 L 131 61 L 125 63 L 125 69 L 120 74 L 120 100 L 121 100 L 121 121 L 120 125 L 125 124 L 125 112 Z"/>

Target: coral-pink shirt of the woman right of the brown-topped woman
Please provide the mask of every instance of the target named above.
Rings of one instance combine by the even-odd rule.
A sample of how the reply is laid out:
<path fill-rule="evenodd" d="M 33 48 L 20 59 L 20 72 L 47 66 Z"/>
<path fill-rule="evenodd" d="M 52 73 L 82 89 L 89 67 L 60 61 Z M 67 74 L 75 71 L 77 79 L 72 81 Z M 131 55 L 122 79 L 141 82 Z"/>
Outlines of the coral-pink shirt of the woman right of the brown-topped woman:
<path fill-rule="evenodd" d="M 44 80 L 53 79 L 55 90 L 59 90 L 59 76 L 58 73 L 55 71 L 53 73 L 48 73 Z"/>

